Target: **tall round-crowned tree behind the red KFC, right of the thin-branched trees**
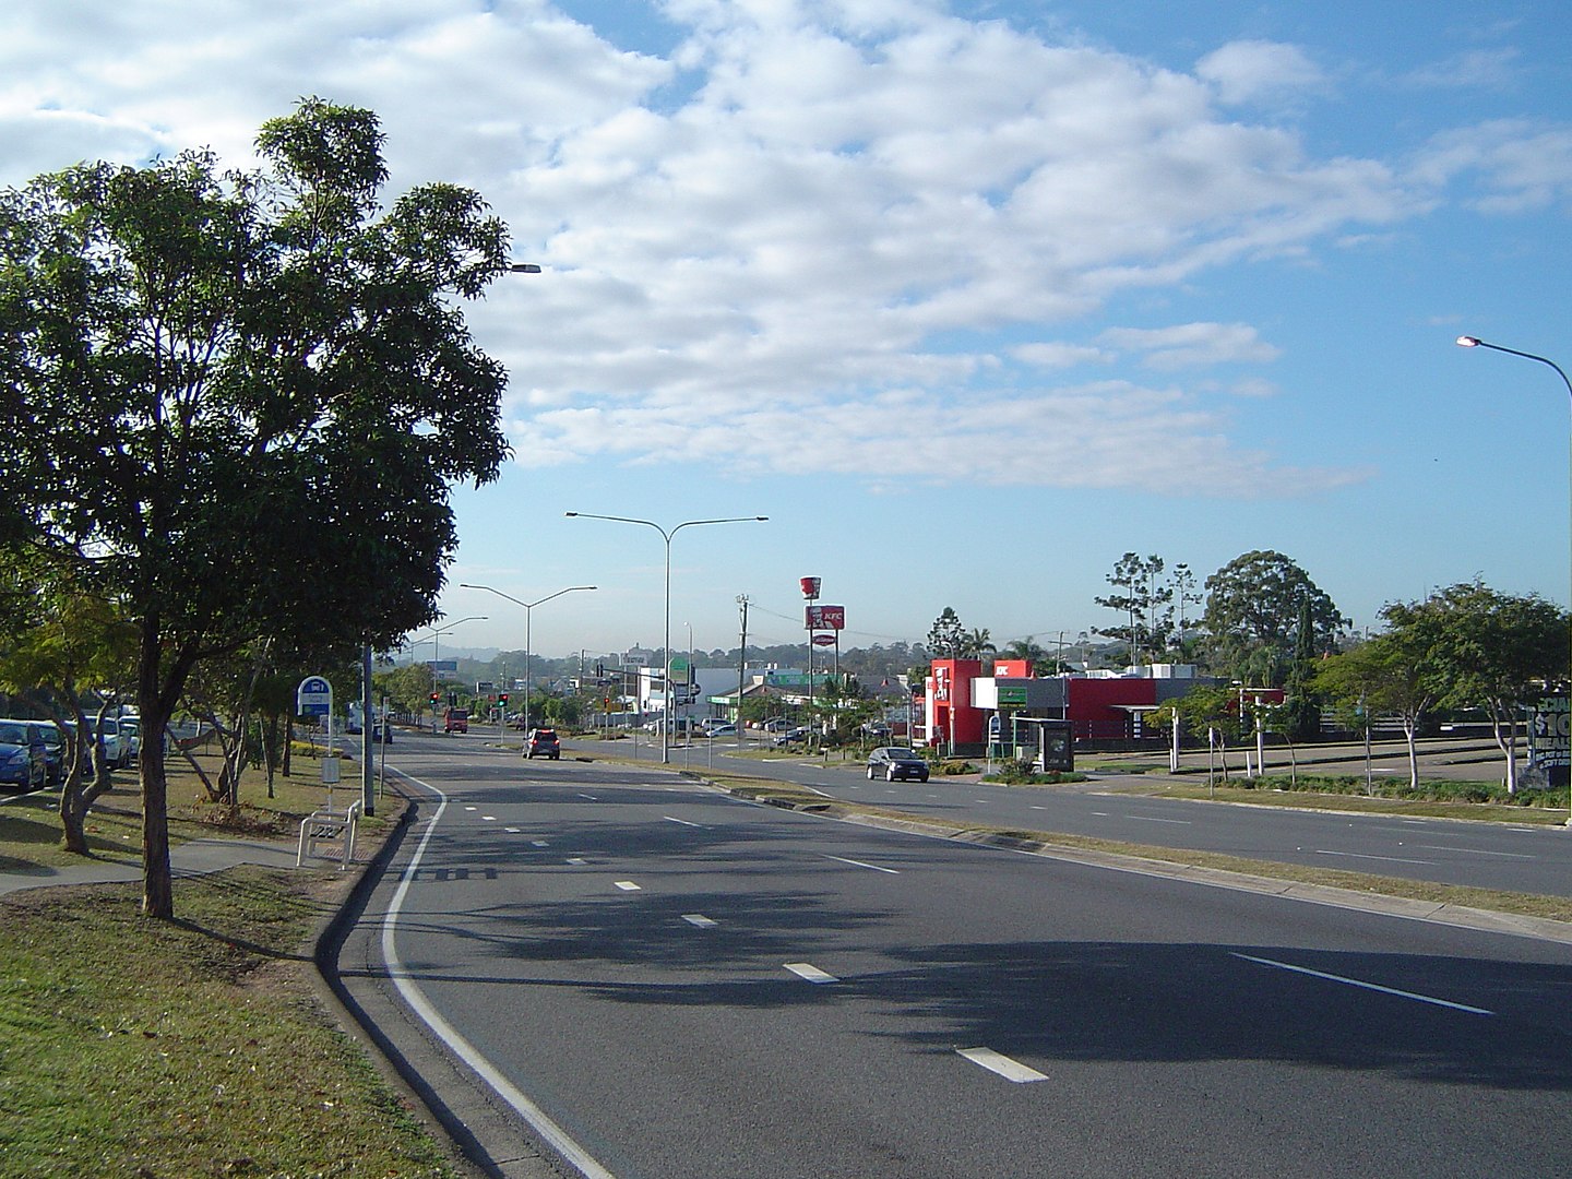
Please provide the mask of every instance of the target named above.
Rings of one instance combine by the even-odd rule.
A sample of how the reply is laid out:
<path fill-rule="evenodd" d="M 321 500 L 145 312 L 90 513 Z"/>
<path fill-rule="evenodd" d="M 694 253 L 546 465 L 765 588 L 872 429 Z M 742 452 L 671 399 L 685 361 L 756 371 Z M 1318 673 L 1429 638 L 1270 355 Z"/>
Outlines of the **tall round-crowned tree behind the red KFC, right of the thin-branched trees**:
<path fill-rule="evenodd" d="M 1281 687 L 1294 662 L 1298 619 L 1309 604 L 1309 637 L 1325 651 L 1347 619 L 1309 574 L 1278 552 L 1236 556 L 1206 578 L 1206 649 L 1220 674 Z"/>

